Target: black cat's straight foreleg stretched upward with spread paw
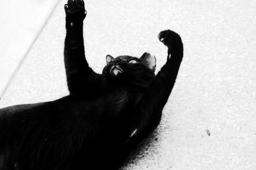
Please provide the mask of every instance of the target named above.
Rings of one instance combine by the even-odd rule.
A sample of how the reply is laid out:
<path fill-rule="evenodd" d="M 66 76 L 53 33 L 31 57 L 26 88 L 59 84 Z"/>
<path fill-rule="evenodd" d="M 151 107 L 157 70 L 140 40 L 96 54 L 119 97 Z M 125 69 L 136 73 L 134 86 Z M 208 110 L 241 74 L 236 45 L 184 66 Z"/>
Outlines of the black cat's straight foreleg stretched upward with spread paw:
<path fill-rule="evenodd" d="M 64 47 L 65 69 L 70 94 L 83 94 L 95 72 L 84 55 L 83 20 L 86 17 L 83 0 L 68 0 L 65 4 L 66 39 Z"/>

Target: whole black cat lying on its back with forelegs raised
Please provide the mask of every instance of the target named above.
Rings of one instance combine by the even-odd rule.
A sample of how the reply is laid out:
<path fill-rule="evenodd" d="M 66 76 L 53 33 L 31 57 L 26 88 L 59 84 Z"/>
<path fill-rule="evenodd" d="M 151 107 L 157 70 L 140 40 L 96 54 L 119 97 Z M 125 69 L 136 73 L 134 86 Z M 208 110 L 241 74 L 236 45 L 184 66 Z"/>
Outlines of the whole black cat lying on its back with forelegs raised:
<path fill-rule="evenodd" d="M 161 120 L 182 61 L 180 36 L 160 32 L 168 56 L 156 76 L 149 53 L 107 55 L 97 74 L 84 56 L 84 2 L 68 0 L 65 11 L 70 95 L 0 110 L 0 169 L 118 169 Z"/>

